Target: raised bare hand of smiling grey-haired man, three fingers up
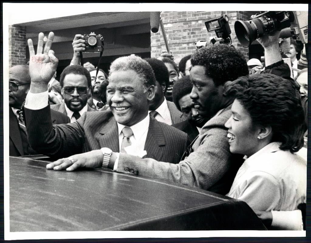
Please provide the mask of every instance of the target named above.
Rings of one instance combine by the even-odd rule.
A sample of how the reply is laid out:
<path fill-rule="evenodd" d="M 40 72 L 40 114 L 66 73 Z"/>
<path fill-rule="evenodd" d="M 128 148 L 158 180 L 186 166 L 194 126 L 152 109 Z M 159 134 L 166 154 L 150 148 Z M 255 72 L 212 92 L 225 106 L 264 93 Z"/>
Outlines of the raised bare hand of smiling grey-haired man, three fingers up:
<path fill-rule="evenodd" d="M 39 33 L 37 54 L 31 39 L 28 39 L 29 47 L 29 72 L 31 78 L 30 92 L 42 93 L 48 90 L 49 80 L 53 77 L 58 65 L 58 59 L 54 56 L 54 51 L 51 50 L 54 33 L 50 32 L 48 40 L 43 42 L 44 34 Z M 43 48 L 44 46 L 44 48 Z"/>

